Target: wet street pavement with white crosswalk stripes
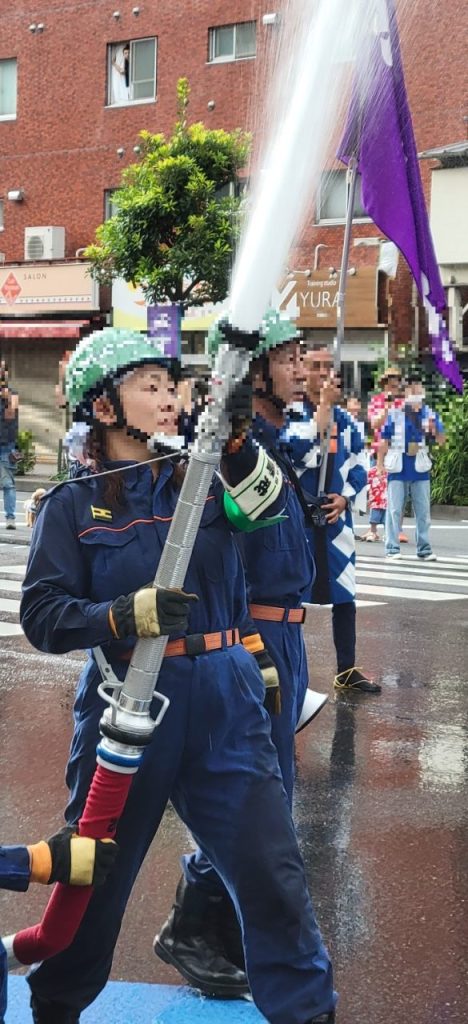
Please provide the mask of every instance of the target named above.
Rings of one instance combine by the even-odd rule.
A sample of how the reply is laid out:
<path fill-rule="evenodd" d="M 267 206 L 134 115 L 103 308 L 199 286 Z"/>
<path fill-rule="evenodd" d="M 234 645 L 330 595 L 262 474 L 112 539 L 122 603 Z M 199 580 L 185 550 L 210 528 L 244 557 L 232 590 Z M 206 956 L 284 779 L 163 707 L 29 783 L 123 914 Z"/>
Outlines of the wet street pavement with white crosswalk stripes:
<path fill-rule="evenodd" d="M 357 663 L 381 680 L 381 696 L 334 695 L 330 609 L 310 608 L 305 625 L 311 685 L 330 701 L 298 737 L 295 819 L 335 963 L 338 1024 L 468 1020 L 468 523 L 434 524 L 435 563 L 416 560 L 411 521 L 406 531 L 401 562 L 385 562 L 382 544 L 357 544 Z M 24 528 L 5 543 L 0 530 L 5 842 L 36 840 L 60 822 L 83 660 L 79 652 L 36 652 L 20 631 L 23 532 L 28 541 Z M 178 858 L 189 848 L 169 808 L 127 910 L 116 984 L 83 1014 L 84 1024 L 262 1020 L 247 1002 L 192 994 L 153 954 Z M 0 893 L 0 933 L 34 924 L 46 898 L 39 887 L 27 895 Z M 28 1020 L 26 983 L 13 978 L 6 1024 Z"/>

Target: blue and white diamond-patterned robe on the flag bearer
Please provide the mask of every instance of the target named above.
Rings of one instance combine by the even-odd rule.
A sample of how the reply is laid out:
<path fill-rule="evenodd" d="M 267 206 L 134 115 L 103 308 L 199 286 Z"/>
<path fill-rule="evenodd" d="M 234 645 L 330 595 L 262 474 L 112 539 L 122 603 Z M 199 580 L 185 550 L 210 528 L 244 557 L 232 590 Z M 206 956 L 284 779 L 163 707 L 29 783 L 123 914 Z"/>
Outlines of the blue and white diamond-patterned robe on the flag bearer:
<path fill-rule="evenodd" d="M 297 414 L 296 414 L 297 415 Z M 338 406 L 333 410 L 333 431 L 325 490 L 343 495 L 350 504 L 366 509 L 368 475 L 364 440 L 357 423 Z M 318 494 L 321 438 L 312 420 L 312 410 L 304 407 L 301 419 L 291 420 L 283 440 L 288 446 L 304 494 Z M 324 528 L 307 530 L 316 564 L 312 601 L 315 604 L 344 604 L 355 599 L 355 543 L 352 514 L 348 507 L 338 521 Z"/>

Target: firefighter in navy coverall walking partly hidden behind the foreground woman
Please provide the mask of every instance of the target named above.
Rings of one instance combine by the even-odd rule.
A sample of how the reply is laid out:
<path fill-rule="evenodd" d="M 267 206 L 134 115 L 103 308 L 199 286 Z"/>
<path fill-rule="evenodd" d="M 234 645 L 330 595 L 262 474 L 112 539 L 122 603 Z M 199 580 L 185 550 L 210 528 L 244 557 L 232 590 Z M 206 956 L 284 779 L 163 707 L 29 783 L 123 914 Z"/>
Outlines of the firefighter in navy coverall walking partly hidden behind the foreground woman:
<path fill-rule="evenodd" d="M 215 350 L 219 326 L 209 341 Z M 286 471 L 280 436 L 286 409 L 302 400 L 304 370 L 302 343 L 293 323 L 270 310 L 261 329 L 261 341 L 252 373 L 255 389 L 253 436 Z M 287 477 L 288 478 L 288 477 Z M 327 696 L 307 690 L 307 660 L 302 632 L 305 609 L 314 579 L 312 553 L 304 528 L 304 513 L 288 482 L 285 518 L 261 532 L 242 532 L 238 545 L 246 570 L 250 614 L 280 677 L 281 711 L 271 714 L 271 738 L 278 751 L 290 804 L 294 784 L 294 735 L 304 708 L 306 724 L 324 707 Z M 253 638 L 249 638 L 253 639 Z M 246 643 L 246 639 L 244 639 Z M 304 697 L 307 697 L 304 705 Z M 278 713 L 280 711 L 280 713 Z M 236 994 L 225 958 L 242 966 L 241 943 L 230 900 L 208 858 L 198 850 L 183 858 L 171 914 L 155 940 L 155 952 L 206 994 Z M 237 976 L 238 994 L 248 990 Z"/>

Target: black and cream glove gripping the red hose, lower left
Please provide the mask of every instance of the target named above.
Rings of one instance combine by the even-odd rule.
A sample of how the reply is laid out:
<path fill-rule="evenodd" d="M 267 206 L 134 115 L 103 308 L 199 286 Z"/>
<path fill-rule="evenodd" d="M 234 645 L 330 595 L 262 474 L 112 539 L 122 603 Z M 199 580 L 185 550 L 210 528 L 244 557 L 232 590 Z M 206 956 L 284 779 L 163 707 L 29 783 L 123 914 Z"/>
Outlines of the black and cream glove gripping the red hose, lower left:
<path fill-rule="evenodd" d="M 101 886 L 119 852 L 114 840 L 86 839 L 70 827 L 28 849 L 32 882 L 66 886 Z"/>

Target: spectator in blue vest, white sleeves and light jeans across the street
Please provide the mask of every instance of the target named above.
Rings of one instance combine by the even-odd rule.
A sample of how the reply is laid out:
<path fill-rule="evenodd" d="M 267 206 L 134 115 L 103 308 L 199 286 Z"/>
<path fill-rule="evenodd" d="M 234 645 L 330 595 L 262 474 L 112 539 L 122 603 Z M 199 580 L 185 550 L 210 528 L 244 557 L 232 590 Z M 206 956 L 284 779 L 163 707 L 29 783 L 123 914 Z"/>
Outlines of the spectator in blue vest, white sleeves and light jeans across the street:
<path fill-rule="evenodd" d="M 399 528 L 407 499 L 411 495 L 416 518 L 418 558 L 435 562 L 429 541 L 430 470 L 428 444 L 443 444 L 445 434 L 440 418 L 425 402 L 421 381 L 411 377 L 405 389 L 403 408 L 393 408 L 382 429 L 378 470 L 388 472 L 388 504 L 385 528 L 385 553 L 398 559 Z"/>

